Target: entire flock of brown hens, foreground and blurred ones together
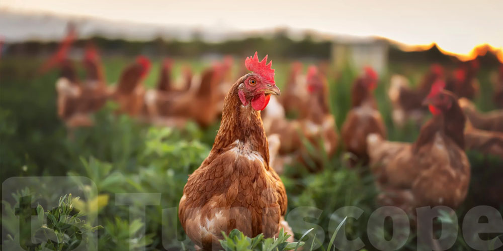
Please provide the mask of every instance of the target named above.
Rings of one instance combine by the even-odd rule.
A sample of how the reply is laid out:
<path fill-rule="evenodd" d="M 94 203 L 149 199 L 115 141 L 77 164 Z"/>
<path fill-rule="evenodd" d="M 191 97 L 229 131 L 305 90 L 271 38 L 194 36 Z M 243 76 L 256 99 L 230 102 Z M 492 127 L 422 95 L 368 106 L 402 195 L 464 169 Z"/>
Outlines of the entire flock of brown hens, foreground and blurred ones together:
<path fill-rule="evenodd" d="M 476 61 L 463 63 L 452 74 L 432 65 L 415 88 L 403 76 L 391 78 L 388 94 L 396 127 L 407 120 L 422 124 L 414 143 L 400 143 L 386 141 L 387 129 L 373 94 L 378 75 L 371 68 L 352 85 L 352 108 L 339 134 L 328 106 L 326 77 L 316 66 L 310 66 L 304 76 L 302 65 L 293 63 L 285 88 L 276 98 L 271 94 L 279 95 L 280 91 L 271 64 L 266 65 L 267 56 L 260 62 L 257 54 L 247 58 L 245 66 L 252 72 L 235 83 L 231 82 L 230 58 L 213 64 L 200 77 L 187 67 L 178 84 L 172 80 L 173 62 L 165 60 L 156 87 L 145 90 L 142 81 L 150 69 L 147 58 L 138 57 L 124 69 L 117 84 L 109 87 L 94 47 L 88 46 L 84 53 L 85 81 L 77 78 L 66 58 L 68 47 L 69 43 L 63 42 L 48 64 L 61 70 L 56 84 L 58 115 L 68 127 L 91 126 L 90 114 L 109 99 L 119 104 L 119 112 L 156 124 L 183 126 L 187 120 L 195 120 L 206 127 L 222 117 L 213 149 L 190 176 L 180 203 L 182 225 L 204 248 L 218 245 L 218 229 L 223 229 L 215 223 L 219 217 L 225 219 L 226 227 L 237 226 L 250 236 L 265 231 L 264 225 L 267 235 L 276 234 L 286 210 L 286 193 L 277 173 L 292 162 L 302 162 L 316 172 L 324 160 L 336 154 L 339 142 L 355 157 L 353 165 L 371 166 L 382 191 L 380 203 L 397 205 L 407 212 L 424 205 L 456 208 L 464 201 L 470 181 L 465 150 L 503 158 L 503 110 L 481 113 L 470 101 L 478 92 Z M 503 107 L 503 66 L 494 102 Z M 425 122 L 428 111 L 433 117 Z M 290 112 L 297 118 L 288 119 L 285 114 Z M 264 191 L 255 194 L 259 188 Z M 260 202 L 261 197 L 270 204 Z M 257 216 L 257 203 L 277 210 L 258 212 Z M 229 223 L 231 214 L 242 216 L 244 211 L 212 211 L 226 206 L 251 210 L 249 224 Z M 195 240 L 192 236 L 201 237 L 198 234 L 203 229 L 209 234 L 207 239 Z"/>

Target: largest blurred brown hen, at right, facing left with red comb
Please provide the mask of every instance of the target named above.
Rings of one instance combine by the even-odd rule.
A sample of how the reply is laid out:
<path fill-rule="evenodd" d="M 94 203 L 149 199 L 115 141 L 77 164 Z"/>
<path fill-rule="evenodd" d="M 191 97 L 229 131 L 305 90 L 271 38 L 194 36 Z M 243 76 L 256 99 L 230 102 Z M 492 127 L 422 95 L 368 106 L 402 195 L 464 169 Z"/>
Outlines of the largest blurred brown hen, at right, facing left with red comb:
<path fill-rule="evenodd" d="M 379 200 L 410 210 L 420 206 L 458 207 L 470 182 L 470 164 L 464 152 L 465 116 L 457 97 L 437 82 L 424 103 L 434 117 L 412 143 L 367 137 L 372 171 L 383 191 Z"/>

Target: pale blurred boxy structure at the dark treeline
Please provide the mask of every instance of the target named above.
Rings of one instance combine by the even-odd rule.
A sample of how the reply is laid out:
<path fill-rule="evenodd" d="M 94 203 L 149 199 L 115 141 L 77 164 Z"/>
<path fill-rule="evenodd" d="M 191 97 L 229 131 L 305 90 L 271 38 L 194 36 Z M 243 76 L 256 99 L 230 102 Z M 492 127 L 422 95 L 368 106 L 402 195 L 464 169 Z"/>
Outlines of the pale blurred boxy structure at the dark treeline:
<path fill-rule="evenodd" d="M 338 69 L 346 64 L 358 70 L 371 66 L 381 74 L 388 64 L 388 43 L 377 38 L 340 37 L 334 41 L 331 53 Z"/>

